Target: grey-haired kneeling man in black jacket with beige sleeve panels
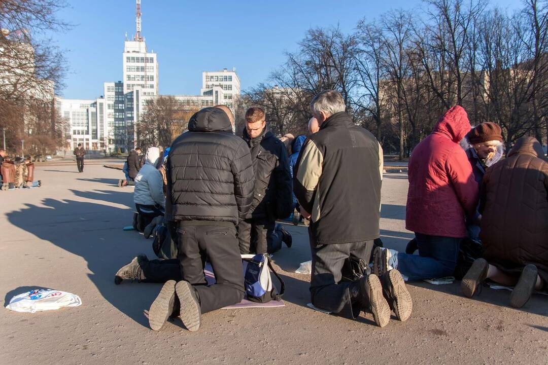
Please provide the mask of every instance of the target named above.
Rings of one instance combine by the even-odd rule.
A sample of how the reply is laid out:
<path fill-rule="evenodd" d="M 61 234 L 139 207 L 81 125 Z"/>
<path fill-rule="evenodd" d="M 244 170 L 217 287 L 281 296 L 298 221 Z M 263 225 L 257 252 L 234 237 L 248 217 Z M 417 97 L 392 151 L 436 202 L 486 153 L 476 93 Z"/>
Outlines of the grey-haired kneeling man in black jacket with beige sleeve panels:
<path fill-rule="evenodd" d="M 341 282 L 345 260 L 368 263 L 379 238 L 382 148 L 352 122 L 339 92 L 320 92 L 310 108 L 319 131 L 302 147 L 293 178 L 301 214 L 310 218 L 312 304 L 350 318 L 369 309 L 380 327 L 390 320 L 390 306 L 407 320 L 412 302 L 397 270 L 381 278 L 383 284 L 374 274 Z"/>

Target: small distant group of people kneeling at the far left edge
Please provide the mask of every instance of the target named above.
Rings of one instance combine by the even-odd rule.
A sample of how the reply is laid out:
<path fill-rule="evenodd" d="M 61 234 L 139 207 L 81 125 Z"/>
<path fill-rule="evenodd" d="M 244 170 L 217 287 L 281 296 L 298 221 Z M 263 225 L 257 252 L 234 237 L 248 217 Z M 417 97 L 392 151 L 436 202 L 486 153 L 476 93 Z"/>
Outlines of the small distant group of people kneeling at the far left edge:
<path fill-rule="evenodd" d="M 42 181 L 34 181 L 34 163 L 30 157 L 10 158 L 5 149 L 0 148 L 0 190 L 37 188 Z"/>

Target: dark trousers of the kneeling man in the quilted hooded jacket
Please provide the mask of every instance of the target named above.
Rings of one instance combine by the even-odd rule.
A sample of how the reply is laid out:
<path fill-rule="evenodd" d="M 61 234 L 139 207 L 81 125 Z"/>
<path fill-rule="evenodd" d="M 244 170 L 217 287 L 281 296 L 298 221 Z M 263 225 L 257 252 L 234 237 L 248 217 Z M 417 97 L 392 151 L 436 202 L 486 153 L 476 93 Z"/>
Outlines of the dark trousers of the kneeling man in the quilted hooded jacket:
<path fill-rule="evenodd" d="M 191 225 L 177 229 L 181 279 L 195 288 L 202 313 L 242 301 L 244 296 L 242 258 L 235 227 Z M 207 286 L 204 263 L 209 258 L 216 283 Z"/>

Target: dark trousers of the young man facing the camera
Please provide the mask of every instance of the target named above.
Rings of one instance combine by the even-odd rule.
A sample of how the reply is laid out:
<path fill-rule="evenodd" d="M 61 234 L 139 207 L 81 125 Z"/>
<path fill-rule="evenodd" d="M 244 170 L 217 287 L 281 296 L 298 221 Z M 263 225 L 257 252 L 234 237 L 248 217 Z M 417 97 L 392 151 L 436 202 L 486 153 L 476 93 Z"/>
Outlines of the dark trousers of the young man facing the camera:
<path fill-rule="evenodd" d="M 273 253 L 282 247 L 282 235 L 275 234 L 276 221 L 268 218 L 244 219 L 238 224 L 241 254 Z"/>

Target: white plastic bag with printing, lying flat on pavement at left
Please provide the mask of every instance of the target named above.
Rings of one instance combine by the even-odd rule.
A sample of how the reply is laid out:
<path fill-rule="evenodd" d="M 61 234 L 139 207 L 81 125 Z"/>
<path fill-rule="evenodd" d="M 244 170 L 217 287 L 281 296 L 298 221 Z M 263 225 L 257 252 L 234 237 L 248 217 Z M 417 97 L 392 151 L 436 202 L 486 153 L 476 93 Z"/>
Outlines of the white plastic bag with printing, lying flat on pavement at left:
<path fill-rule="evenodd" d="M 76 294 L 53 289 L 34 289 L 13 297 L 5 308 L 17 312 L 34 313 L 81 304 L 82 300 Z"/>

